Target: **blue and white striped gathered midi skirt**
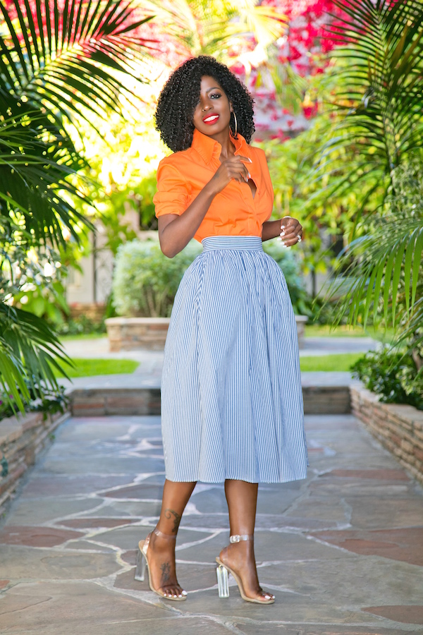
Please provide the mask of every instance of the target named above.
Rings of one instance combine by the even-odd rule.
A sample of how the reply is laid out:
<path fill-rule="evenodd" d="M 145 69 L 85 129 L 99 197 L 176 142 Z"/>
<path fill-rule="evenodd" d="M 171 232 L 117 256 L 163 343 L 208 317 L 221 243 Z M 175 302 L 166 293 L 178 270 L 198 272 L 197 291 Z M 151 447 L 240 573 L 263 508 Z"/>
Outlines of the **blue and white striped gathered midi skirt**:
<path fill-rule="evenodd" d="M 257 236 L 211 236 L 185 272 L 161 384 L 166 478 L 307 475 L 295 317 Z"/>

